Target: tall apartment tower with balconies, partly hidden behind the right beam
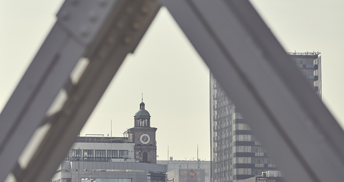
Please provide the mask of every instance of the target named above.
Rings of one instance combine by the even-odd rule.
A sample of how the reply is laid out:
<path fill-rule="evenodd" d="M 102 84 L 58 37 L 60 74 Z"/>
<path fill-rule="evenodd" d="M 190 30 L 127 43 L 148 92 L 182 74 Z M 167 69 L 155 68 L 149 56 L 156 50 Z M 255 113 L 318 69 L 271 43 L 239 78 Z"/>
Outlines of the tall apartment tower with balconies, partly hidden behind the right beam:
<path fill-rule="evenodd" d="M 320 53 L 288 53 L 321 98 Z M 210 74 L 211 182 L 232 182 L 276 170 L 234 103 Z"/>

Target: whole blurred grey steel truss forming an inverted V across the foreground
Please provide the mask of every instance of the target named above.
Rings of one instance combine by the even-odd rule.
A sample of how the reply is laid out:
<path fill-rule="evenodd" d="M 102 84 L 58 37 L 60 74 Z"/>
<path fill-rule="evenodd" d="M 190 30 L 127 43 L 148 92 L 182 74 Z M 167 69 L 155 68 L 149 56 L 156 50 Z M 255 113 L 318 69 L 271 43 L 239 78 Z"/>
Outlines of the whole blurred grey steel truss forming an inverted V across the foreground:
<path fill-rule="evenodd" d="M 344 132 L 247 0 L 160 1 L 270 151 L 287 181 L 344 179 Z M 49 181 L 158 12 L 154 0 L 67 0 L 0 114 L 0 181 Z M 88 65 L 71 80 L 78 60 Z M 47 114 L 57 94 L 67 99 Z M 306 94 L 307 93 L 307 94 Z M 45 136 L 26 167 L 35 130 Z"/>

